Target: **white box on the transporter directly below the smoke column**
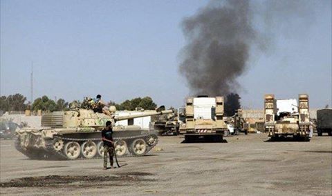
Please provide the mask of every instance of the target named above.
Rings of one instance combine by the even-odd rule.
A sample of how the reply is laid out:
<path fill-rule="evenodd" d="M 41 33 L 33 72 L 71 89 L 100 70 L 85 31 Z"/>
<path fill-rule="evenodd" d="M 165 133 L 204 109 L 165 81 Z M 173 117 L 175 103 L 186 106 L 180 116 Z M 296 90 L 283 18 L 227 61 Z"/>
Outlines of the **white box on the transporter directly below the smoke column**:
<path fill-rule="evenodd" d="M 216 98 L 195 97 L 193 101 L 194 119 L 211 119 L 212 107 L 216 108 Z"/>

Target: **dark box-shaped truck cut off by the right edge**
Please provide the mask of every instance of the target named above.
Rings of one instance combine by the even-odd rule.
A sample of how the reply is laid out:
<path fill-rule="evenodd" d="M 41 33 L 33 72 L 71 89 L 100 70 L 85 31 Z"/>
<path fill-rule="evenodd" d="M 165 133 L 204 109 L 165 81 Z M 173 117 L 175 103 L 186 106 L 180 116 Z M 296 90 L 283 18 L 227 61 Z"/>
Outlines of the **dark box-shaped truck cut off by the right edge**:
<path fill-rule="evenodd" d="M 332 136 L 332 109 L 317 110 L 317 135 L 328 133 Z"/>

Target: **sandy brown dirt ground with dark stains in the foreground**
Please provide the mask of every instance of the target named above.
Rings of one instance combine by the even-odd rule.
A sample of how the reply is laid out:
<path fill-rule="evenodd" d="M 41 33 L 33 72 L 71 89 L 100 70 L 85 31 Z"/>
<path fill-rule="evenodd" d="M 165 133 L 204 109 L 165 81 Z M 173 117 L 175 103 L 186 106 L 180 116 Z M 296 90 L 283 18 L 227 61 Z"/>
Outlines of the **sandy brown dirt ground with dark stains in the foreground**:
<path fill-rule="evenodd" d="M 181 144 L 160 137 L 144 157 L 31 160 L 0 141 L 1 195 L 332 195 L 332 137 L 266 142 L 265 134 L 228 143 Z"/>

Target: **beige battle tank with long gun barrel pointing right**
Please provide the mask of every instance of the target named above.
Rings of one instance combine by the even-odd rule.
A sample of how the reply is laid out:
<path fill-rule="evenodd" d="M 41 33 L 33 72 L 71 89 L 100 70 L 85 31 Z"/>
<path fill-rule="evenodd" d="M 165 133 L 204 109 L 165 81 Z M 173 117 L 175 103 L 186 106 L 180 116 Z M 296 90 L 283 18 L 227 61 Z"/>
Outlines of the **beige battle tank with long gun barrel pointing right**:
<path fill-rule="evenodd" d="M 111 115 L 76 108 L 69 111 L 50 112 L 42 116 L 42 127 L 22 128 L 16 131 L 15 147 L 32 159 L 93 159 L 102 157 L 101 130 L 107 121 L 116 121 L 172 113 L 159 107 L 142 111 L 139 115 L 116 116 L 115 107 Z M 119 157 L 142 156 L 158 143 L 153 130 L 139 126 L 113 126 L 116 155 Z"/>

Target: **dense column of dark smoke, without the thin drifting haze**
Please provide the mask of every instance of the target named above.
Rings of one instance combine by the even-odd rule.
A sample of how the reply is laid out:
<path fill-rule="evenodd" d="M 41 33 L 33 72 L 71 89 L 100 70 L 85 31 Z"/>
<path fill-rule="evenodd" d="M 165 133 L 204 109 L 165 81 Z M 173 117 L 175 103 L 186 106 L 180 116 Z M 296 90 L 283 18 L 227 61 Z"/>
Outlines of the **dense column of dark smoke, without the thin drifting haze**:
<path fill-rule="evenodd" d="M 188 43 L 180 71 L 194 94 L 228 95 L 237 88 L 255 40 L 248 2 L 214 1 L 183 21 Z"/>

